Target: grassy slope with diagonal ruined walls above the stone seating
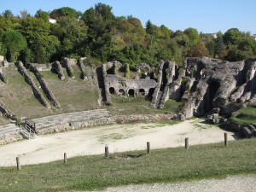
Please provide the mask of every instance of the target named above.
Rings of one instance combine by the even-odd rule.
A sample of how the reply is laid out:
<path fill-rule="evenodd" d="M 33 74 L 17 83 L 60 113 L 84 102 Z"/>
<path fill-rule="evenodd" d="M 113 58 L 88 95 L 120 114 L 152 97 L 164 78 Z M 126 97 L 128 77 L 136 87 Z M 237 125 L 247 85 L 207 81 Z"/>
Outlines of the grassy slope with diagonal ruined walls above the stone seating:
<path fill-rule="evenodd" d="M 75 79 L 67 76 L 65 68 L 63 70 L 66 79 L 62 81 L 58 78 L 56 73 L 41 72 L 49 85 L 49 89 L 53 92 L 57 101 L 60 102 L 61 108 L 55 108 L 53 106 L 51 109 L 44 108 L 33 95 L 31 86 L 26 83 L 14 64 L 3 69 L 3 73 L 5 73 L 9 82 L 8 84 L 1 82 L 0 101 L 5 104 L 11 113 L 18 117 L 26 116 L 31 119 L 58 113 L 70 113 L 100 108 L 97 104 L 98 93 L 96 84 L 93 82 L 93 79 L 90 78 L 93 69 L 86 67 L 85 70 L 88 73 L 89 79 L 85 81 L 80 79 L 81 72 L 78 66 L 73 67 Z M 43 93 L 34 74 L 29 71 L 28 73 L 32 79 L 34 79 L 39 90 Z M 45 95 L 44 97 L 46 98 Z M 0 121 L 0 123 L 1 122 L 2 121 Z"/>

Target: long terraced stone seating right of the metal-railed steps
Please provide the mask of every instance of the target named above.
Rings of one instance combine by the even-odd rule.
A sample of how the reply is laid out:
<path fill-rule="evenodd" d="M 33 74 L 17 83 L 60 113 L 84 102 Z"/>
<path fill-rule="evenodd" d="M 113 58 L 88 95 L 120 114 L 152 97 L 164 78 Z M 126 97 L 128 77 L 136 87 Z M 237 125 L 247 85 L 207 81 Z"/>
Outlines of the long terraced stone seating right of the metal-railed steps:
<path fill-rule="evenodd" d="M 36 124 L 38 134 L 113 123 L 113 119 L 106 109 L 64 113 L 32 120 Z"/>

